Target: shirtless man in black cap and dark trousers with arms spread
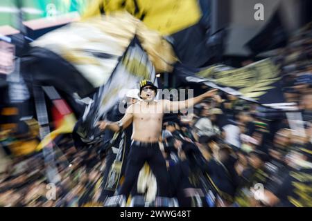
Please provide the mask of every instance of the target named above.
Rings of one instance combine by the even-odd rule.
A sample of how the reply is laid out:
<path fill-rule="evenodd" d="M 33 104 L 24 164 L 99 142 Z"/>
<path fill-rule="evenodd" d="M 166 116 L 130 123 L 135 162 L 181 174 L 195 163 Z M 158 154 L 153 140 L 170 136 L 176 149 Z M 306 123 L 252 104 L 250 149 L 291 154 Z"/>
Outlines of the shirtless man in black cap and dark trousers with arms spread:
<path fill-rule="evenodd" d="M 171 102 L 168 100 L 155 101 L 157 87 L 150 81 L 140 82 L 140 96 L 143 101 L 132 104 L 125 111 L 125 116 L 119 122 L 98 122 L 101 130 L 120 131 L 133 124 L 132 144 L 125 168 L 125 180 L 119 195 L 128 198 L 139 171 L 145 162 L 155 174 L 159 196 L 168 197 L 168 172 L 166 162 L 159 149 L 159 136 L 162 131 L 164 113 L 178 111 L 198 104 L 207 97 L 214 96 L 216 90 L 209 90 L 198 97 L 187 101 Z"/>

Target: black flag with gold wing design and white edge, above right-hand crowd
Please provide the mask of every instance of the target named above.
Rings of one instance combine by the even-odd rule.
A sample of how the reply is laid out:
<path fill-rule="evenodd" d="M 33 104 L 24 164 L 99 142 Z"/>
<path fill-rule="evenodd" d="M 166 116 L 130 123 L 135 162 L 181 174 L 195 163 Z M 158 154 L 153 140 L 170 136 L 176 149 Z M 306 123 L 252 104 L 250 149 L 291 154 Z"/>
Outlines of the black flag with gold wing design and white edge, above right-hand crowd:
<path fill-rule="evenodd" d="M 279 81 L 279 68 L 270 59 L 263 59 L 242 68 L 216 65 L 198 69 L 177 64 L 174 73 L 181 79 L 180 84 L 202 84 L 218 88 L 225 93 L 270 108 L 295 108 L 295 104 L 285 103 Z"/>

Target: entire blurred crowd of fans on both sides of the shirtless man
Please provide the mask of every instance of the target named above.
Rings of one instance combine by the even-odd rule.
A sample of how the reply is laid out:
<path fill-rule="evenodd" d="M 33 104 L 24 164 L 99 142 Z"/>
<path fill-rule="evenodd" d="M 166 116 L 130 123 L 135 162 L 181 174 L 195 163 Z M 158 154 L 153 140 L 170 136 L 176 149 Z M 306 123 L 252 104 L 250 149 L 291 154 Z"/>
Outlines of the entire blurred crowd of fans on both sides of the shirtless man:
<path fill-rule="evenodd" d="M 312 206 L 311 33 L 307 26 L 275 57 L 297 118 L 219 94 L 164 123 L 169 197 L 179 206 Z M 0 206 L 104 205 L 104 144 L 78 148 L 69 135 L 55 143 L 55 186 L 43 153 L 17 157 L 0 175 Z"/>

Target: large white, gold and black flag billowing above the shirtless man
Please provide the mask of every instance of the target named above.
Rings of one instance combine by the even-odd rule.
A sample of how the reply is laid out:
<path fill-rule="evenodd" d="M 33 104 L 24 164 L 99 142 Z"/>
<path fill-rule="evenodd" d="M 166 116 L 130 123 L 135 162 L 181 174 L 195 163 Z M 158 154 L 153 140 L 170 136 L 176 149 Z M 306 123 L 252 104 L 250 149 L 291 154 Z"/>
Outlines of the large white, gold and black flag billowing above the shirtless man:
<path fill-rule="evenodd" d="M 49 32 L 31 44 L 22 71 L 40 85 L 86 97 L 110 79 L 137 35 L 157 72 L 171 72 L 177 60 L 171 45 L 126 12 L 85 19 Z"/>

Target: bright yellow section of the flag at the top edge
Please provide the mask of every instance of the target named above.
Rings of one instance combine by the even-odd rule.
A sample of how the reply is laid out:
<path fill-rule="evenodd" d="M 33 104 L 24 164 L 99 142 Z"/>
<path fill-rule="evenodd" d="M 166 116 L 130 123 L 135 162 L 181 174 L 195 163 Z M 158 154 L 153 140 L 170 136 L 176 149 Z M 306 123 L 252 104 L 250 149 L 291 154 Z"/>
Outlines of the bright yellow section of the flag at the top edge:
<path fill-rule="evenodd" d="M 83 18 L 126 10 L 162 35 L 171 35 L 200 20 L 202 12 L 197 0 L 94 0 Z"/>

